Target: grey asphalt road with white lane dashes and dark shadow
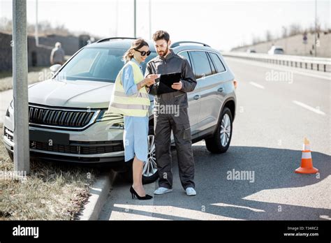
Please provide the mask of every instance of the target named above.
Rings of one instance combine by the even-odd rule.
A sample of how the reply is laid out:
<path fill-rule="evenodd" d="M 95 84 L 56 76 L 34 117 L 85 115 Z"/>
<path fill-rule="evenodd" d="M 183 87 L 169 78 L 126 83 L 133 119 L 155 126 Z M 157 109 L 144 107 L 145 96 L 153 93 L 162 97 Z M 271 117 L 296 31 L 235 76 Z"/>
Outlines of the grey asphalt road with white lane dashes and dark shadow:
<path fill-rule="evenodd" d="M 226 60 L 239 82 L 233 140 L 225 154 L 210 154 L 204 141 L 193 145 L 197 196 L 182 189 L 173 150 L 172 193 L 132 200 L 130 184 L 117 177 L 101 220 L 331 219 L 330 74 Z M 319 175 L 294 173 L 304 137 Z M 231 180 L 233 170 L 254 176 Z M 145 185 L 147 193 L 156 188 Z"/>

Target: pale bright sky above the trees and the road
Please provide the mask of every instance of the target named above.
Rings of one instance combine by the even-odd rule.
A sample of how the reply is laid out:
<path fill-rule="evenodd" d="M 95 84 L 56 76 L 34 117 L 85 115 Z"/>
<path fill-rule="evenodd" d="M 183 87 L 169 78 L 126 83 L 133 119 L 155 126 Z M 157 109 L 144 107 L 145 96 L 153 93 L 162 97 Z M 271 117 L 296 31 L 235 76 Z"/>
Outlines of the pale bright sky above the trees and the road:
<path fill-rule="evenodd" d="M 12 4 L 0 0 L 0 20 L 12 18 Z M 282 27 L 310 27 L 315 21 L 314 0 L 136 0 L 136 6 L 138 37 L 150 39 L 150 33 L 163 29 L 172 42 L 199 41 L 217 50 L 249 44 L 252 36 L 263 39 L 266 31 L 280 36 Z M 331 28 L 330 1 L 317 1 L 317 16 L 323 28 Z M 38 0 L 38 20 L 100 37 L 132 37 L 133 0 Z M 27 0 L 27 21 L 36 22 L 36 0 Z"/>

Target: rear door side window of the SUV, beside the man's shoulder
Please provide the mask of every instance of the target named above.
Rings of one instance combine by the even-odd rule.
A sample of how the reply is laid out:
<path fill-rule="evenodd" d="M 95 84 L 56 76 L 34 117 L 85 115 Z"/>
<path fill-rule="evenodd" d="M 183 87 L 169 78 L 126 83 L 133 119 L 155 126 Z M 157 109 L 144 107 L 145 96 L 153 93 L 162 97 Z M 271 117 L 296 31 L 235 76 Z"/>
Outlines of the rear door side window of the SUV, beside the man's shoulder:
<path fill-rule="evenodd" d="M 212 74 L 206 52 L 193 51 L 190 52 L 190 57 L 192 57 L 193 71 L 196 75 L 196 79 Z"/>

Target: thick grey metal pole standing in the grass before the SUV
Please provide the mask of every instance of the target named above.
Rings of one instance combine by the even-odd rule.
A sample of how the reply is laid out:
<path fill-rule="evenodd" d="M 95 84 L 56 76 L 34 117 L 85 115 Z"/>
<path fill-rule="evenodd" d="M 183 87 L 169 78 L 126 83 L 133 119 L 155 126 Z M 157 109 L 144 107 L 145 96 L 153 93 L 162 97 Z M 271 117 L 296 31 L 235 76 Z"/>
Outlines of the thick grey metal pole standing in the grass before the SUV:
<path fill-rule="evenodd" d="M 13 0 L 14 173 L 30 172 L 27 1 Z"/>

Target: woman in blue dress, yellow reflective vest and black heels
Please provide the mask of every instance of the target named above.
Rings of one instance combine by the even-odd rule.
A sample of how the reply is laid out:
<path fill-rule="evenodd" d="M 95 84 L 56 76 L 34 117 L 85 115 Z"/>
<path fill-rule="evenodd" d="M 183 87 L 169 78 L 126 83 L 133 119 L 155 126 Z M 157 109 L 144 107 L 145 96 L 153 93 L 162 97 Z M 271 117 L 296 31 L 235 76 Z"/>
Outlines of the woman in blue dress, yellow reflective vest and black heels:
<path fill-rule="evenodd" d="M 143 39 L 134 40 L 124 54 L 126 64 L 119 71 L 108 112 L 124 115 L 124 156 L 125 161 L 133 159 L 133 185 L 131 196 L 148 200 L 142 186 L 142 167 L 148 155 L 148 108 L 150 105 L 147 89 L 155 83 L 156 74 L 144 79 L 140 65 L 151 52 Z"/>

